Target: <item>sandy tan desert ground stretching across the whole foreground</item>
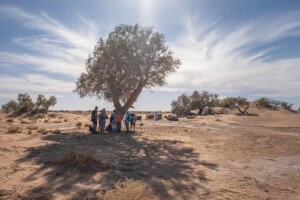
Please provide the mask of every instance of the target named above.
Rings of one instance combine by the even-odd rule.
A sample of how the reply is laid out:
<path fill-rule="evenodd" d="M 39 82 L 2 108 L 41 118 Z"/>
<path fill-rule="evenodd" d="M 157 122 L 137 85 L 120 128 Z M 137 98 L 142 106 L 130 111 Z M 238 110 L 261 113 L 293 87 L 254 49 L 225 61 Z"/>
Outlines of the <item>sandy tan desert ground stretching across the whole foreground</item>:
<path fill-rule="evenodd" d="M 0 199 L 98 199 L 126 178 L 147 183 L 154 199 L 300 199 L 300 113 L 249 112 L 178 122 L 143 115 L 132 134 L 97 135 L 88 113 L 2 112 Z M 22 130 L 7 133 L 13 126 Z M 62 165 L 72 151 L 96 161 Z"/>

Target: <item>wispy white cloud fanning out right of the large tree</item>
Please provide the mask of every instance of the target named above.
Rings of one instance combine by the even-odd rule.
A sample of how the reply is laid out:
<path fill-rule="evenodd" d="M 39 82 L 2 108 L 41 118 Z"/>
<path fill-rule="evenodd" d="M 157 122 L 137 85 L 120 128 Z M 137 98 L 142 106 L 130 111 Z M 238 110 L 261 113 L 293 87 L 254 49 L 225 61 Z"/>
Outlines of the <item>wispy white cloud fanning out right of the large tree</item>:
<path fill-rule="evenodd" d="M 171 43 L 182 66 L 161 90 L 209 89 L 223 94 L 299 97 L 299 56 L 276 58 L 272 54 L 281 50 L 273 43 L 300 36 L 299 18 L 300 12 L 293 12 L 235 27 L 215 22 L 205 25 L 196 18 L 186 18 L 186 32 Z"/>

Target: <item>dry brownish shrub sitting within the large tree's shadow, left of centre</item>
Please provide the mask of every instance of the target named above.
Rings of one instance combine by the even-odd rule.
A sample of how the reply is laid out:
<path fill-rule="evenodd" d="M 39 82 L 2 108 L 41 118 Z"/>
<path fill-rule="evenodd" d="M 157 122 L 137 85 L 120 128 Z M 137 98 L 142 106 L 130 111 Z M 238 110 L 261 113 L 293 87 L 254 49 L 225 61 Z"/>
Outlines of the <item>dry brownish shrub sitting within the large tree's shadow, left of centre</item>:
<path fill-rule="evenodd" d="M 67 150 L 57 161 L 59 165 L 68 168 L 85 168 L 98 162 L 94 153 L 85 149 Z"/>

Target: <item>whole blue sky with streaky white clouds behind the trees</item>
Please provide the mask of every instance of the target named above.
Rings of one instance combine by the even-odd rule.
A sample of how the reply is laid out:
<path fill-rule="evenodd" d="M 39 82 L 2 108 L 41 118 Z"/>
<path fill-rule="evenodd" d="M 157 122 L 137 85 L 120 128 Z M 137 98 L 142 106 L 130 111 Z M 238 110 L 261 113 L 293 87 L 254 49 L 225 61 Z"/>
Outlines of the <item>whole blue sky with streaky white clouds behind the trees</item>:
<path fill-rule="evenodd" d="M 55 110 L 112 110 L 75 82 L 100 38 L 136 23 L 163 33 L 182 64 L 135 110 L 168 111 L 194 90 L 300 107 L 299 0 L 0 0 L 0 105 L 28 93 L 56 96 Z"/>

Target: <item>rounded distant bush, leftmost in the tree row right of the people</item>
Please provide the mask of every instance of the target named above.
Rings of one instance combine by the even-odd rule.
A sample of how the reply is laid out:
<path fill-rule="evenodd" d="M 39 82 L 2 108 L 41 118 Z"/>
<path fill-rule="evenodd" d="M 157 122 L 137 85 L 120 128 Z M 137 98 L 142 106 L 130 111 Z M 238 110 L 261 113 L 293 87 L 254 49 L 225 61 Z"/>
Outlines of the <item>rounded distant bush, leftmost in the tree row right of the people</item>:
<path fill-rule="evenodd" d="M 180 95 L 176 101 L 171 103 L 172 113 L 177 117 L 189 115 L 191 112 L 191 99 L 188 95 Z"/>

